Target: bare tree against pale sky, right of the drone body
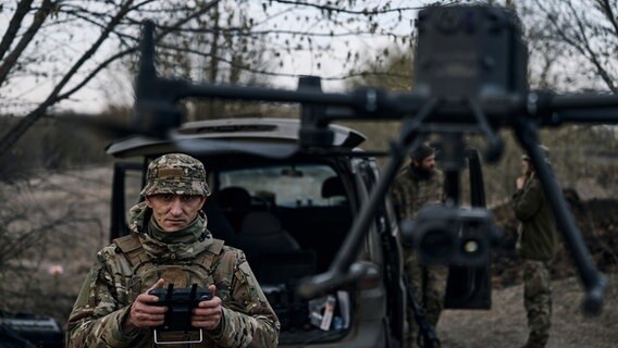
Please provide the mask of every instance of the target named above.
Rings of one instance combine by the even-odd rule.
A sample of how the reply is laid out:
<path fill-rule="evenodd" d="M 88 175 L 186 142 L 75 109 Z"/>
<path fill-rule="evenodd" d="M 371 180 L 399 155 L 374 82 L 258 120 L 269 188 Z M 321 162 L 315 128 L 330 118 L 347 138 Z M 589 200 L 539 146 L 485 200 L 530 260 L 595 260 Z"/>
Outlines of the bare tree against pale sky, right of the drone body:
<path fill-rule="evenodd" d="M 533 57 L 545 63 L 537 83 L 561 90 L 616 92 L 618 3 L 608 0 L 526 0 L 518 10 Z M 549 65 L 547 63 L 551 63 Z"/>

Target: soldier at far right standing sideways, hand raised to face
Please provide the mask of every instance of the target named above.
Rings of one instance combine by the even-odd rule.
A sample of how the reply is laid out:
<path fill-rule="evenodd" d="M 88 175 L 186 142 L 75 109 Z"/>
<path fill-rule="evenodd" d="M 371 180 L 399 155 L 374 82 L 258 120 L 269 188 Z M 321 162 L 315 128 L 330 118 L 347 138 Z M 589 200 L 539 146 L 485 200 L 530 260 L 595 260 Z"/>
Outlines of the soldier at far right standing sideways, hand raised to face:
<path fill-rule="evenodd" d="M 549 163 L 545 151 L 545 160 Z M 545 347 L 549 338 L 552 287 L 549 262 L 556 251 L 556 222 L 534 175 L 528 156 L 521 161 L 523 175 L 516 181 L 512 207 L 520 222 L 517 250 L 523 260 L 523 304 L 530 334 L 523 347 Z"/>

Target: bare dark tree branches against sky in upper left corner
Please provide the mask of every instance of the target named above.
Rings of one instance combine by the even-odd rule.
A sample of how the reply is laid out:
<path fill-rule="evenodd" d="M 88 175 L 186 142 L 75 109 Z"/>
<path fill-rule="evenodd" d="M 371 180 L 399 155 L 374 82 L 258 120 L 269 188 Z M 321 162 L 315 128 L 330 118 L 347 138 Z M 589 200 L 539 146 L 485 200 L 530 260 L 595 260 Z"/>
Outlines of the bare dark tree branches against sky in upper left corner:
<path fill-rule="evenodd" d="M 160 5 L 152 8 L 153 1 L 134 0 L 119 3 L 44 0 L 39 7 L 35 7 L 34 2 L 24 0 L 16 3 L 9 27 L 2 37 L 0 87 L 7 88 L 9 91 L 7 95 L 10 96 L 11 83 L 33 76 L 35 80 L 49 77 L 50 80 L 47 83 L 51 83 L 51 87 L 41 98 L 42 101 L 35 102 L 18 124 L 5 133 L 0 141 L 0 153 L 7 151 L 51 107 L 71 98 L 114 61 L 135 52 L 138 29 L 135 24 L 138 24 L 141 17 L 163 16 L 169 14 L 169 11 L 174 11 L 175 15 L 170 20 L 173 22 L 164 22 L 168 29 L 159 34 L 158 39 L 161 39 L 171 30 L 182 28 L 183 25 L 207 13 L 218 1 L 201 3 L 195 9 L 187 8 L 182 1 L 170 4 L 169 8 Z M 178 15 L 180 13 L 182 15 Z M 21 30 L 28 20 L 33 21 L 30 26 Z M 74 39 L 72 30 L 76 28 L 83 28 L 81 33 L 83 37 L 79 39 L 87 39 L 88 36 L 94 39 L 69 47 L 54 45 L 57 39 L 54 33 L 70 29 L 66 33 L 71 41 Z M 18 42 L 12 45 L 17 37 L 20 37 Z M 99 53 L 111 37 L 116 38 L 122 49 L 101 57 L 102 54 Z M 46 64 L 49 60 L 55 64 Z M 48 72 L 50 67 L 52 71 Z M 2 102 L 14 103 L 15 100 L 3 99 Z"/>

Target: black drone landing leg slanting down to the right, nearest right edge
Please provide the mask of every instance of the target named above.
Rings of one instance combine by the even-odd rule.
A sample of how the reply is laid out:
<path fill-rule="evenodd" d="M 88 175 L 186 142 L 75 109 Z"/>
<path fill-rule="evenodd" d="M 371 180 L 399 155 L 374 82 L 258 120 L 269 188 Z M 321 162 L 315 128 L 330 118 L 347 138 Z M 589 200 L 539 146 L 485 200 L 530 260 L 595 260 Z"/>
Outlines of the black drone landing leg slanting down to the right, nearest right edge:
<path fill-rule="evenodd" d="M 554 213 L 557 227 L 563 233 L 567 248 L 571 252 L 576 266 L 579 270 L 580 279 L 586 291 L 582 303 L 583 310 L 588 314 L 596 314 L 603 307 L 606 279 L 597 272 L 592 262 L 585 241 L 579 232 L 573 216 L 569 213 L 558 183 L 554 178 L 549 165 L 544 160 L 542 149 L 537 146 L 539 139 L 535 127 L 530 121 L 520 119 L 516 124 L 516 135 L 532 160 L 535 173 L 541 181 L 543 191 Z"/>

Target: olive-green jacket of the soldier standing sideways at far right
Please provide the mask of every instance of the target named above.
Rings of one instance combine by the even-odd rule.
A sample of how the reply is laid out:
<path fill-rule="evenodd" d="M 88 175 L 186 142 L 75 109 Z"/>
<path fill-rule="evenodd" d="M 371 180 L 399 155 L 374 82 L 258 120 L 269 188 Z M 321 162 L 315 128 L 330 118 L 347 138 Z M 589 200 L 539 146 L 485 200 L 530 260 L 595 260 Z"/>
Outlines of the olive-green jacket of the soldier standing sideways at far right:
<path fill-rule="evenodd" d="M 524 259 L 548 261 L 557 244 L 556 221 L 543 194 L 541 182 L 529 179 L 512 195 L 512 208 L 521 223 L 517 251 Z"/>

